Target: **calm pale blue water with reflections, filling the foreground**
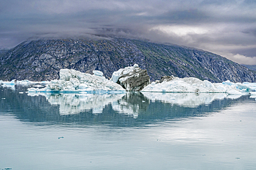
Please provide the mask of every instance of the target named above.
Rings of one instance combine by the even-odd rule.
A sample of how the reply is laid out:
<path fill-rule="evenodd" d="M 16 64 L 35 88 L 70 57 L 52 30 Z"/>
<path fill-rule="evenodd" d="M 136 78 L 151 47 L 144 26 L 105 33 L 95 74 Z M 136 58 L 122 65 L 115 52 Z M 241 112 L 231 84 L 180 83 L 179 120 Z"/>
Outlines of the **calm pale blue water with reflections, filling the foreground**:
<path fill-rule="evenodd" d="M 0 87 L 0 169 L 256 168 L 250 96 L 25 91 Z"/>

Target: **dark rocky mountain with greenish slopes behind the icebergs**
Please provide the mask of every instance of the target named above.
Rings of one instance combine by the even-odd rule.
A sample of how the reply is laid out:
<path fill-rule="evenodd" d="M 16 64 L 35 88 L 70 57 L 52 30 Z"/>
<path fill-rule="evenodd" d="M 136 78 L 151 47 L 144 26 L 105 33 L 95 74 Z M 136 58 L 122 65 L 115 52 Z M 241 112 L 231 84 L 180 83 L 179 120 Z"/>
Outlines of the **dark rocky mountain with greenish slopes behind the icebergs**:
<path fill-rule="evenodd" d="M 84 73 L 100 70 L 110 78 L 125 66 L 147 69 L 152 81 L 163 75 L 210 82 L 256 82 L 256 72 L 224 57 L 194 48 L 123 38 L 39 39 L 0 55 L 0 79 L 33 81 L 59 78 L 61 68 Z"/>

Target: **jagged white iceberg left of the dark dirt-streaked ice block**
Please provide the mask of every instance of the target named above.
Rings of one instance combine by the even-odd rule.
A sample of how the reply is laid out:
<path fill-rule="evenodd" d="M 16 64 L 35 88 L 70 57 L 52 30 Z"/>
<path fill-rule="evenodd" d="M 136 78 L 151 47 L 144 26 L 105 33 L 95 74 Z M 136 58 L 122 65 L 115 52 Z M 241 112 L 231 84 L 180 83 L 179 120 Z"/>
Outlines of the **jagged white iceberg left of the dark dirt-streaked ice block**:
<path fill-rule="evenodd" d="M 103 73 L 99 70 L 94 70 L 93 73 L 94 75 L 89 73 L 81 73 L 80 71 L 73 69 L 61 69 L 60 79 L 51 80 L 51 82 L 49 82 L 45 88 L 28 88 L 28 92 L 97 91 L 102 93 L 111 93 L 111 91 L 125 91 L 125 89 L 119 84 L 116 84 L 103 77 Z"/>

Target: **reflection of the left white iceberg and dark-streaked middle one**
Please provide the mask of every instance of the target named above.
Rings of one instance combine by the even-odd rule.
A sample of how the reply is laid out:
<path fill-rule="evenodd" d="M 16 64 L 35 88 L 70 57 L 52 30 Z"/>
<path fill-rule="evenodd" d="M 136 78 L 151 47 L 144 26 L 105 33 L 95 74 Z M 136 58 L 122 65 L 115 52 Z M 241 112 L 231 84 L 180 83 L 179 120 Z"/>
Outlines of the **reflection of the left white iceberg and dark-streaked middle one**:
<path fill-rule="evenodd" d="M 111 104 L 113 111 L 136 118 L 138 111 L 146 109 L 149 104 L 147 98 L 141 93 L 133 92 L 122 94 L 28 93 L 28 95 L 43 95 L 49 104 L 59 106 L 60 115 L 74 115 L 90 110 L 94 114 L 99 114 L 103 112 L 105 106 Z"/>

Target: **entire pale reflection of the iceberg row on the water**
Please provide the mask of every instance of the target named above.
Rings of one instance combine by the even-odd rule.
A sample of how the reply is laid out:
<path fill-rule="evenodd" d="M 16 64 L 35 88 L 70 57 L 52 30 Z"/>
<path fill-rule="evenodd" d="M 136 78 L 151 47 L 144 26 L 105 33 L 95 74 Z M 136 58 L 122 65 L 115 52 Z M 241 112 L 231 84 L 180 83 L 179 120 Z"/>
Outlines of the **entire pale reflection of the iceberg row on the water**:
<path fill-rule="evenodd" d="M 241 95 L 230 96 L 227 93 L 150 93 L 127 92 L 122 94 L 95 93 L 28 93 L 28 95 L 44 95 L 51 105 L 58 105 L 60 115 L 74 115 L 84 111 L 94 114 L 103 112 L 107 105 L 113 111 L 122 115 L 138 117 L 140 111 L 146 111 L 150 102 L 163 102 L 178 106 L 196 108 L 211 104 L 214 100 L 238 98 Z"/>

